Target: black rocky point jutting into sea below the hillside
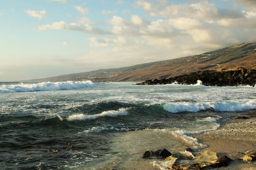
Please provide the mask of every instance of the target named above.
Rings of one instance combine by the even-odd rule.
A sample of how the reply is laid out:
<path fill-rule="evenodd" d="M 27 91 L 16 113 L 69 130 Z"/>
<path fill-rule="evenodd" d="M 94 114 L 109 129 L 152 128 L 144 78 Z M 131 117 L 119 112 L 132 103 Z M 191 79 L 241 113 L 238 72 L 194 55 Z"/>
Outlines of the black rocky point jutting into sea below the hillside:
<path fill-rule="evenodd" d="M 161 80 L 146 80 L 136 85 L 165 85 L 165 84 L 182 84 L 191 85 L 196 84 L 198 80 L 202 81 L 203 85 L 207 86 L 239 86 L 256 84 L 256 69 L 246 69 L 244 67 L 235 70 L 218 71 L 205 70 L 196 71 L 194 73 L 175 76 L 168 79 Z"/>

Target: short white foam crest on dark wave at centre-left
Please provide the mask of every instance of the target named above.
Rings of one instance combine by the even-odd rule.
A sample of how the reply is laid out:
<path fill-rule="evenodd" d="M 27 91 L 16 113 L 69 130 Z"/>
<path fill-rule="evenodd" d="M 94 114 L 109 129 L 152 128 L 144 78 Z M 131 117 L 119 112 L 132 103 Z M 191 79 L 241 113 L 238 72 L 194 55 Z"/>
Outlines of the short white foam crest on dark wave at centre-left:
<path fill-rule="evenodd" d="M 117 116 L 126 116 L 128 115 L 128 111 L 124 108 L 120 108 L 119 110 L 109 110 L 109 111 L 103 111 L 102 113 L 96 114 L 96 115 L 84 115 L 84 114 L 75 114 L 70 115 L 67 120 L 93 120 L 99 117 L 117 117 Z"/>

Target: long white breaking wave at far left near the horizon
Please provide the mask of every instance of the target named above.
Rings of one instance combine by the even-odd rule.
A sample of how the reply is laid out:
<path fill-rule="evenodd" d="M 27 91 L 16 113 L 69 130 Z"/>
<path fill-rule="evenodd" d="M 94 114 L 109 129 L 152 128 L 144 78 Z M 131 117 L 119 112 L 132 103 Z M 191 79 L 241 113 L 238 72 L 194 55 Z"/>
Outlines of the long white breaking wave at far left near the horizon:
<path fill-rule="evenodd" d="M 51 90 L 73 90 L 84 87 L 94 87 L 95 84 L 88 81 L 60 81 L 60 82 L 43 82 L 31 84 L 15 84 L 15 85 L 1 85 L 0 93 L 13 92 L 35 92 L 35 91 L 51 91 Z"/>

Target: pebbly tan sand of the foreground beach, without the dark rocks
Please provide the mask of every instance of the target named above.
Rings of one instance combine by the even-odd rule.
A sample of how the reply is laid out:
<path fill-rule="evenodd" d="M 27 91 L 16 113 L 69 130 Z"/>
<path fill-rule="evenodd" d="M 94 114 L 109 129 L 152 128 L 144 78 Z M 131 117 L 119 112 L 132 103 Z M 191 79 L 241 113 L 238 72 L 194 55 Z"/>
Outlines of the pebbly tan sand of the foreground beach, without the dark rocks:
<path fill-rule="evenodd" d="M 248 119 L 234 119 L 214 131 L 193 135 L 217 155 L 227 155 L 234 160 L 227 167 L 212 169 L 256 169 L 256 162 L 243 161 L 246 151 L 256 149 L 256 113 L 246 113 Z M 220 157 L 218 156 L 218 157 Z"/>

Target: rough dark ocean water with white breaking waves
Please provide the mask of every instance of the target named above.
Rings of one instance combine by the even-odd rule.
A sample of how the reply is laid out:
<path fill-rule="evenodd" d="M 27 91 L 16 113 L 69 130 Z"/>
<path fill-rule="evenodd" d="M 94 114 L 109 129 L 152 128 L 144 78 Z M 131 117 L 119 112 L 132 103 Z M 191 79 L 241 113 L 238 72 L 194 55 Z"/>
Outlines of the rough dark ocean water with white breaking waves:
<path fill-rule="evenodd" d="M 193 134 L 256 109 L 255 87 L 0 83 L 0 169 L 164 169 L 147 150 L 207 147 Z"/>

